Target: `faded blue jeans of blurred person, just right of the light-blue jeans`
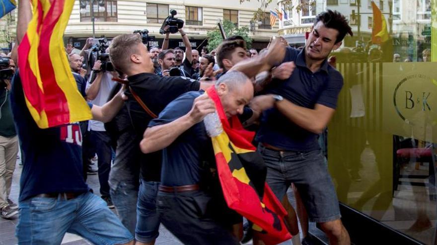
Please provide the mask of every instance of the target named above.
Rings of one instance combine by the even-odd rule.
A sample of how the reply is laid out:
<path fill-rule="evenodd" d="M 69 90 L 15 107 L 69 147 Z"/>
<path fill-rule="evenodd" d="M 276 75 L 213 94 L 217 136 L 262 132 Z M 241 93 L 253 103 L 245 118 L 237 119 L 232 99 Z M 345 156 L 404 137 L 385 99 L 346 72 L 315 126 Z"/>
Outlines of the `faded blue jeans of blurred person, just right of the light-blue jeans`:
<path fill-rule="evenodd" d="M 121 223 L 134 236 L 137 224 L 138 184 L 121 181 L 116 186 L 111 185 L 110 193 Z"/>

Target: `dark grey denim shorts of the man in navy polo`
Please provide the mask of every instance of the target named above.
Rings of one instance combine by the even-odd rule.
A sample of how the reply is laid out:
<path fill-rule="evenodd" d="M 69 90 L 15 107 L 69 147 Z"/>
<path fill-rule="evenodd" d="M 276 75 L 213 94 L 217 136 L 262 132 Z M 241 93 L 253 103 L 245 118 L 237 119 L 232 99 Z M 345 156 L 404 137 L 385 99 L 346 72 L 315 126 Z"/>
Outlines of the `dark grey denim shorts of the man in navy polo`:
<path fill-rule="evenodd" d="M 282 200 L 291 183 L 299 191 L 311 222 L 341 218 L 334 184 L 321 150 L 277 151 L 260 145 L 267 165 L 267 183 Z"/>

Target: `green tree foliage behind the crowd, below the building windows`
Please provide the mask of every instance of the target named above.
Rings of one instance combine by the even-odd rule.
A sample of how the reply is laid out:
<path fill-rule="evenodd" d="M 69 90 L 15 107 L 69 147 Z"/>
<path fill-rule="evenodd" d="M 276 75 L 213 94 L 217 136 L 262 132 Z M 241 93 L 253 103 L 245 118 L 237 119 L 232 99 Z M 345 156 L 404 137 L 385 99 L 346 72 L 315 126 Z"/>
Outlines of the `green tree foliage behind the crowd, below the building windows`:
<path fill-rule="evenodd" d="M 247 26 L 237 28 L 235 24 L 232 23 L 231 21 L 224 20 L 223 29 L 224 29 L 224 33 L 226 34 L 226 37 L 230 37 L 232 35 L 241 36 L 246 41 L 247 48 L 250 49 L 252 47 L 252 39 L 249 37 L 249 28 Z M 218 30 L 218 27 L 214 31 L 208 32 L 207 38 L 208 38 L 208 47 L 207 47 L 208 51 L 217 49 L 218 45 L 220 45 L 220 43 L 223 41 L 221 38 L 220 31 Z"/>

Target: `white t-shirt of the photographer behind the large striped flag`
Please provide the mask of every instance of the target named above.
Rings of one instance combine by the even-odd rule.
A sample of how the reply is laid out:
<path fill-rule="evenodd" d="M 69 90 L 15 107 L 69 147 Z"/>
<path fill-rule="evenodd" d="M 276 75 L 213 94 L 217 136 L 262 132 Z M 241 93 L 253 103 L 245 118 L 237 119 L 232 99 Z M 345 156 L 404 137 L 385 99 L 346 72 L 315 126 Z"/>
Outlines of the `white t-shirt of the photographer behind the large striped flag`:
<path fill-rule="evenodd" d="M 112 81 L 111 73 L 104 72 L 102 76 L 102 81 L 100 82 L 99 93 L 97 94 L 96 98 L 91 100 L 90 102 L 98 106 L 104 105 L 108 101 L 109 94 L 111 93 L 115 84 L 116 82 Z M 88 80 L 88 82 L 86 82 L 86 89 L 88 89 L 89 86 L 91 86 L 91 84 L 89 84 Z M 89 120 L 88 130 L 106 131 L 103 123 L 95 120 Z"/>

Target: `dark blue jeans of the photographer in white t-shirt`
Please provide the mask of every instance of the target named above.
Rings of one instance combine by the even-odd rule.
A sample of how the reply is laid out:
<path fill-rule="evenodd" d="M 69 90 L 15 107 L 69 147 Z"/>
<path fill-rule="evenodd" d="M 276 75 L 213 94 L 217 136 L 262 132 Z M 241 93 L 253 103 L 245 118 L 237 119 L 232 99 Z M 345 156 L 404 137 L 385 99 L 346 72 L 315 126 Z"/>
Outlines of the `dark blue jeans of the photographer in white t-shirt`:
<path fill-rule="evenodd" d="M 99 167 L 99 183 L 100 195 L 102 197 L 109 196 L 109 171 L 111 171 L 111 138 L 106 131 L 90 131 L 91 142 L 96 148 L 97 152 L 97 166 Z"/>

